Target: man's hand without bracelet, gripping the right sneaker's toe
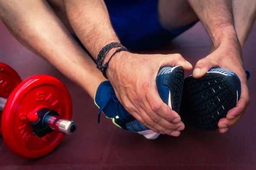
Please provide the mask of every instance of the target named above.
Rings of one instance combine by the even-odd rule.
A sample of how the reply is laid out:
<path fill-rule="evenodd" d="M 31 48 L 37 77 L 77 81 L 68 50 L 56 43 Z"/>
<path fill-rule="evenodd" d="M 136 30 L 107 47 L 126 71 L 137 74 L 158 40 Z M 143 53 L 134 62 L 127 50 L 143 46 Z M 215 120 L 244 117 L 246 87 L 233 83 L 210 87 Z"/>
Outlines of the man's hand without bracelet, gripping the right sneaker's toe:
<path fill-rule="evenodd" d="M 241 96 L 236 107 L 227 113 L 226 118 L 222 118 L 218 122 L 219 132 L 225 133 L 231 126 L 235 125 L 245 113 L 246 107 L 250 103 L 250 96 L 241 59 L 241 48 L 234 44 L 223 44 L 216 50 L 215 47 L 212 46 L 211 50 L 213 51 L 211 54 L 197 62 L 193 71 L 193 77 L 202 77 L 210 68 L 220 67 L 234 71 L 241 80 Z"/>

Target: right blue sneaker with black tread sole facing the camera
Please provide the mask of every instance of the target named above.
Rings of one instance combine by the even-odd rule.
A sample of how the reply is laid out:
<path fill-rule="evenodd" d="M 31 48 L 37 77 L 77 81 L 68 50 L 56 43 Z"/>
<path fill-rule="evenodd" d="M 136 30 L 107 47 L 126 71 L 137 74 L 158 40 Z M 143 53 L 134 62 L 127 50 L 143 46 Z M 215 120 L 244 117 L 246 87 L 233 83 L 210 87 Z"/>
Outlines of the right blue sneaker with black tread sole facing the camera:
<path fill-rule="evenodd" d="M 250 73 L 246 71 L 247 79 Z M 241 82 L 233 71 L 212 68 L 203 77 L 184 80 L 181 121 L 202 130 L 218 129 L 218 122 L 236 107 L 241 94 Z"/>

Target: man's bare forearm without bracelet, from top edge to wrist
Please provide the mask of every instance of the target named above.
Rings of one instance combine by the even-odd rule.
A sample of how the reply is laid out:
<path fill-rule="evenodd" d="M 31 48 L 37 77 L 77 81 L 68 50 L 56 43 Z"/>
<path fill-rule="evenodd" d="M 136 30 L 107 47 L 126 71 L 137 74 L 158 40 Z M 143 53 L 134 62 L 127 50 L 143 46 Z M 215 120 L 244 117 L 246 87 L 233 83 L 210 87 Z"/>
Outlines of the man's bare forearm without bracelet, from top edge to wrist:
<path fill-rule="evenodd" d="M 189 0 L 207 29 L 215 47 L 222 43 L 238 46 L 231 0 Z"/>

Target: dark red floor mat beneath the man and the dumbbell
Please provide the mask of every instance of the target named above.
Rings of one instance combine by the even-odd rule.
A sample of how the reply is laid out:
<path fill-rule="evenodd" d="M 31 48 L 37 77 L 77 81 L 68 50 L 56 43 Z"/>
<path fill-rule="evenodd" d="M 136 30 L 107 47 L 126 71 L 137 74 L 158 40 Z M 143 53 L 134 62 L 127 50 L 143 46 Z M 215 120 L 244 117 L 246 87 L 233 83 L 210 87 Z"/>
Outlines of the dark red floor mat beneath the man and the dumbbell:
<path fill-rule="evenodd" d="M 194 65 L 207 55 L 209 46 L 210 39 L 198 23 L 170 45 L 150 52 L 180 53 Z M 54 152 L 38 160 L 15 156 L 0 138 L 0 170 L 255 170 L 255 47 L 256 23 L 243 50 L 244 66 L 251 73 L 251 104 L 233 128 L 225 134 L 186 128 L 178 138 L 160 136 L 151 141 L 119 129 L 109 119 L 97 124 L 98 109 L 86 92 L 20 45 L 0 23 L 0 62 L 12 66 L 22 79 L 48 74 L 64 82 L 73 100 L 73 120 L 79 126 L 74 136 L 68 136 Z"/>

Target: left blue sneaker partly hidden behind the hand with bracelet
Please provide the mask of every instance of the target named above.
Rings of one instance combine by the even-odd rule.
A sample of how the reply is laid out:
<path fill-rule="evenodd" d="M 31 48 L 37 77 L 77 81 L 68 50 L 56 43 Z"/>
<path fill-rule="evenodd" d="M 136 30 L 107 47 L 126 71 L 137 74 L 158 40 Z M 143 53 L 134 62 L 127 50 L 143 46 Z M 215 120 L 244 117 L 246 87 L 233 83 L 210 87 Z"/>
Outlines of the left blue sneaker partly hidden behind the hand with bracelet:
<path fill-rule="evenodd" d="M 165 67 L 157 74 L 156 83 L 161 99 L 178 113 L 183 89 L 184 71 L 180 66 Z M 113 124 L 124 130 L 139 133 L 147 139 L 156 139 L 160 133 L 155 133 L 134 118 L 116 98 L 109 81 L 102 82 L 95 94 L 94 102 L 99 108 L 98 123 L 102 111 Z"/>

